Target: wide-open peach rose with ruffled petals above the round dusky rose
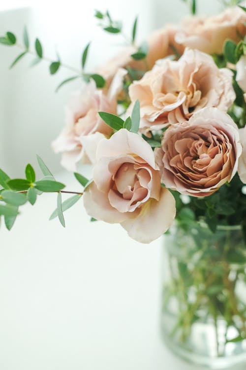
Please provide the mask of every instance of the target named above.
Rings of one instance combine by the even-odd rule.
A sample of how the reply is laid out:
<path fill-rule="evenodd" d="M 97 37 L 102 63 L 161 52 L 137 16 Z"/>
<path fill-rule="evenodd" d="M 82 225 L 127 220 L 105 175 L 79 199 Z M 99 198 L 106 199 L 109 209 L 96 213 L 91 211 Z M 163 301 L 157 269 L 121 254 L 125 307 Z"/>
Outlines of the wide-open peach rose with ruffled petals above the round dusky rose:
<path fill-rule="evenodd" d="M 184 122 L 204 107 L 227 111 L 235 99 L 232 72 L 218 69 L 213 58 L 186 48 L 178 61 L 157 63 L 129 87 L 134 103 L 140 102 L 143 132 Z"/>

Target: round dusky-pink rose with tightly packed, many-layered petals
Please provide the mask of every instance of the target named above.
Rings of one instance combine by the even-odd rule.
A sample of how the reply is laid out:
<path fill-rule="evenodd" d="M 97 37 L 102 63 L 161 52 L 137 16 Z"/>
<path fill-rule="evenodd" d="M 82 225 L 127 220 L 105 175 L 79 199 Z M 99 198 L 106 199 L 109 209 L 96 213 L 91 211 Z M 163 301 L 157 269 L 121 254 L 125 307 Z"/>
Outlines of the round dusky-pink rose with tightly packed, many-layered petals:
<path fill-rule="evenodd" d="M 242 146 L 231 117 L 216 108 L 204 108 L 188 122 L 170 126 L 161 148 L 155 150 L 166 187 L 203 197 L 233 178 Z"/>

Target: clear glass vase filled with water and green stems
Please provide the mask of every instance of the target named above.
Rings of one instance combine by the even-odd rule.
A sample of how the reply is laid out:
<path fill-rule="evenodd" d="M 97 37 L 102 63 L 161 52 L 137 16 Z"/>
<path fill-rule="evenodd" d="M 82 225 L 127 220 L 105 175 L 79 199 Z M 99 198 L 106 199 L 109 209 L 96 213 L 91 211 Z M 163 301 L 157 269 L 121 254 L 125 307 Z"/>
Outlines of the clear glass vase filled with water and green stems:
<path fill-rule="evenodd" d="M 189 362 L 246 362 L 246 244 L 240 226 L 176 224 L 164 235 L 161 327 Z M 246 365 L 245 365 L 246 368 Z M 233 368 L 234 369 L 234 368 Z"/>

